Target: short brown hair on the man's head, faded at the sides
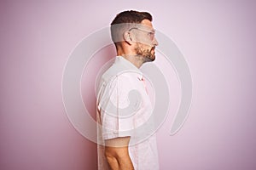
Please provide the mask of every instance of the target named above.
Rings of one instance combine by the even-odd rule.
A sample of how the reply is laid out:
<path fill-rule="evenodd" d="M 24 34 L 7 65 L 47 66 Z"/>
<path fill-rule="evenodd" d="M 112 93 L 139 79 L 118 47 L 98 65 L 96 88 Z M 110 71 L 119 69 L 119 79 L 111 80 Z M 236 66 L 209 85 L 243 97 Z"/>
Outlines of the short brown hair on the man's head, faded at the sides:
<path fill-rule="evenodd" d="M 121 34 L 129 29 L 129 24 L 140 24 L 143 20 L 152 21 L 152 15 L 148 12 L 138 12 L 134 10 L 127 10 L 117 14 L 110 28 L 113 42 L 116 44 L 116 42 L 120 41 L 120 37 L 122 37 Z"/>

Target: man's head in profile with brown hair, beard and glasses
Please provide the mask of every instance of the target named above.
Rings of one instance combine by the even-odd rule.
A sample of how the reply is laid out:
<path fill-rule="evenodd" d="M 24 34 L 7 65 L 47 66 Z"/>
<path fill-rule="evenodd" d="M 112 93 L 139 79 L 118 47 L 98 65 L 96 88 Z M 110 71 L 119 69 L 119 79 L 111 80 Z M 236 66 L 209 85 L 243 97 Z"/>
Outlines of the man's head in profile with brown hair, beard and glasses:
<path fill-rule="evenodd" d="M 124 11 L 111 23 L 111 36 L 118 54 L 136 55 L 142 62 L 154 61 L 154 37 L 152 16 L 147 12 Z"/>

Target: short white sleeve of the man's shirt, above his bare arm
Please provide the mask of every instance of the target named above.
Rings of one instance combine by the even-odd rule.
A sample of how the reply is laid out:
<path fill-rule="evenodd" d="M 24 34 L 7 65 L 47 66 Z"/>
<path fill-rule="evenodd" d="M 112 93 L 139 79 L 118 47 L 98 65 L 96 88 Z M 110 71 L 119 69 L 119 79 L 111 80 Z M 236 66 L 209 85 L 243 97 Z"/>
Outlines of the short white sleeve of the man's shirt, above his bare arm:
<path fill-rule="evenodd" d="M 141 98 L 132 80 L 127 75 L 116 76 L 101 89 L 98 109 L 103 139 L 133 135 L 135 115 L 139 111 Z"/>

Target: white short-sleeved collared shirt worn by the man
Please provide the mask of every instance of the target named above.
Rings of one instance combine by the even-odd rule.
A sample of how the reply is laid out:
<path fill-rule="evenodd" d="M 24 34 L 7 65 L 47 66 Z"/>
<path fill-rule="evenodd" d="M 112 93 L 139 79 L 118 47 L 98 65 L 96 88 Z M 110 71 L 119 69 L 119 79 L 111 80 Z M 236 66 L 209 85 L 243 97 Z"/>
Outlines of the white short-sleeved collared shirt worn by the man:
<path fill-rule="evenodd" d="M 105 139 L 130 136 L 129 155 L 135 170 L 158 170 L 159 161 L 155 135 L 138 128 L 148 123 L 153 108 L 149 99 L 143 73 L 122 56 L 117 56 L 114 64 L 101 78 L 97 89 L 97 135 L 98 169 L 108 170 L 104 156 Z M 148 133 L 148 138 L 140 138 L 140 133 Z"/>

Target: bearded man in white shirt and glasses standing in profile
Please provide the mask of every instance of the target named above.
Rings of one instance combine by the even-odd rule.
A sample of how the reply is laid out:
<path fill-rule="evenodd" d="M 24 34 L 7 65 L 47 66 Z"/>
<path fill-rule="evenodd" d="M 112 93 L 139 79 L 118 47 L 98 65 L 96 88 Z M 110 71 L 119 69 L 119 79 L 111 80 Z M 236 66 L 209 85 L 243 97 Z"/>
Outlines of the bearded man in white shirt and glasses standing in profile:
<path fill-rule="evenodd" d="M 157 170 L 153 108 L 139 70 L 155 59 L 152 16 L 121 12 L 111 23 L 111 35 L 117 57 L 97 89 L 98 169 Z"/>

